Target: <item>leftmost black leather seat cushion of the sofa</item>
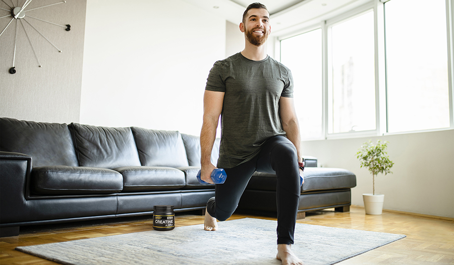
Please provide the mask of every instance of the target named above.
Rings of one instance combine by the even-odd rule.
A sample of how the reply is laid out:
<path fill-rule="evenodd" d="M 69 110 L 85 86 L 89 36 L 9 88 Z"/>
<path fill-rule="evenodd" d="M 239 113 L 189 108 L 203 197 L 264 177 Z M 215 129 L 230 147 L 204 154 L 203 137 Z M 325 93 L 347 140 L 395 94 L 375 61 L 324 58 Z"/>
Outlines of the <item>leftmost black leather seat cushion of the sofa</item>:
<path fill-rule="evenodd" d="M 123 177 L 104 168 L 43 166 L 33 168 L 30 186 L 41 195 L 109 194 L 123 189 Z"/>

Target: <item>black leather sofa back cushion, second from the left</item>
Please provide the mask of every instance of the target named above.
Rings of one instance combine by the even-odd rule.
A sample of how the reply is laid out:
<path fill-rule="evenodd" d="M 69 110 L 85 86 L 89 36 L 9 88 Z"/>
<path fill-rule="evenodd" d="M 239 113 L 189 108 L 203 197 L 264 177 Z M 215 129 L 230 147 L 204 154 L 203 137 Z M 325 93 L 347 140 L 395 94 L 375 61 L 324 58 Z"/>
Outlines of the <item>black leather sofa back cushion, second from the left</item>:
<path fill-rule="evenodd" d="M 112 128 L 71 123 L 80 166 L 117 168 L 140 166 L 131 128 Z"/>

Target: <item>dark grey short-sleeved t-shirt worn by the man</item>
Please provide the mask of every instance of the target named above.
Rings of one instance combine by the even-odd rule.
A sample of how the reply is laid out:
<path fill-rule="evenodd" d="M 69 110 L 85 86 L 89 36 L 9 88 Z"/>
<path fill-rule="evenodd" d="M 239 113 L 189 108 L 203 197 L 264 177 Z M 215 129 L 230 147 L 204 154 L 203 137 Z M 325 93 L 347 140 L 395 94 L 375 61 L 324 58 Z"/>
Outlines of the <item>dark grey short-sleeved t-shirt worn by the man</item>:
<path fill-rule="evenodd" d="M 254 158 L 262 144 L 285 135 L 279 98 L 293 97 L 290 70 L 267 56 L 254 61 L 241 53 L 216 61 L 206 90 L 224 92 L 217 167 L 232 168 Z"/>

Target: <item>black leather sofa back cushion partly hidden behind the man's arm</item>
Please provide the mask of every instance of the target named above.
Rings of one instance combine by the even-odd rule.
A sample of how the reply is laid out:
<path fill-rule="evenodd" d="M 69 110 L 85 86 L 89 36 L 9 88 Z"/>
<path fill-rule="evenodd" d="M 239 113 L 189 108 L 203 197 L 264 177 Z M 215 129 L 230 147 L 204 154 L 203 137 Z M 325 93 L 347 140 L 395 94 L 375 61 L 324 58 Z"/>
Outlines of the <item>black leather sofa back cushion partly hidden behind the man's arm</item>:
<path fill-rule="evenodd" d="M 200 151 L 200 137 L 185 134 L 182 134 L 181 137 L 183 138 L 183 142 L 185 144 L 189 165 L 193 167 L 200 167 L 200 158 L 202 157 L 202 153 Z M 213 165 L 217 164 L 217 159 L 219 158 L 219 144 L 220 139 L 216 138 L 211 151 L 211 163 L 213 163 Z"/>

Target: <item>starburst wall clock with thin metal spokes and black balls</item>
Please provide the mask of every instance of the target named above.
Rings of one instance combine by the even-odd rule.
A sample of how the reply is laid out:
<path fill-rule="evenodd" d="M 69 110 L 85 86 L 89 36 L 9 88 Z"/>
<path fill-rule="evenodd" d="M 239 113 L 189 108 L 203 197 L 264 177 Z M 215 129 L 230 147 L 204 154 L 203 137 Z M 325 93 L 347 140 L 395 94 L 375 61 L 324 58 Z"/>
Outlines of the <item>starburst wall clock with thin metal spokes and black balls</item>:
<path fill-rule="evenodd" d="M 36 61 L 38 62 L 38 67 L 41 68 L 42 64 L 40 63 L 39 58 L 38 58 L 38 56 L 36 54 L 36 51 L 35 51 L 35 47 L 33 46 L 33 43 L 30 40 L 28 31 L 30 31 L 30 30 L 36 31 L 50 45 L 55 47 L 56 50 L 58 50 L 59 52 L 62 52 L 61 49 L 59 49 L 57 46 L 55 46 L 54 43 L 52 43 L 52 41 L 50 40 L 51 38 L 50 39 L 47 38 L 35 26 L 33 26 L 33 21 L 34 20 L 39 20 L 39 21 L 42 21 L 42 22 L 45 22 L 45 23 L 49 23 L 49 24 L 52 24 L 54 26 L 62 27 L 66 31 L 70 31 L 71 30 L 71 26 L 69 24 L 68 25 L 59 25 L 59 24 L 47 21 L 47 20 L 45 20 L 43 18 L 34 17 L 33 16 L 33 10 L 42 9 L 42 8 L 48 8 L 48 7 L 59 5 L 59 4 L 64 4 L 64 3 L 66 3 L 66 1 L 61 1 L 61 2 L 50 4 L 50 5 L 44 5 L 44 6 L 40 6 L 40 7 L 36 7 L 36 8 L 31 8 L 31 9 L 29 9 L 27 7 L 29 6 L 29 4 L 33 0 L 25 0 L 25 3 L 22 3 L 21 0 L 0 0 L 0 1 L 1 1 L 0 2 L 0 20 L 10 20 L 8 22 L 7 26 L 3 30 L 0 29 L 0 30 L 2 30 L 2 32 L 0 33 L 0 38 L 2 38 L 2 35 L 3 35 L 3 33 L 5 31 L 7 31 L 7 30 L 15 30 L 15 34 L 14 34 L 14 50 L 11 51 L 11 52 L 13 52 L 13 62 L 12 62 L 13 64 L 12 64 L 12 67 L 9 69 L 10 74 L 15 74 L 16 73 L 16 67 L 14 65 L 15 60 L 16 60 L 16 48 L 17 48 L 18 41 L 21 41 L 21 40 L 18 40 L 18 37 L 17 37 L 18 30 L 22 29 L 25 32 L 26 39 L 23 40 L 23 41 L 28 41 L 28 43 L 30 44 L 30 47 L 31 47 L 31 49 L 33 51 L 33 54 L 35 55 Z M 35 0 L 35 1 L 39 2 L 39 0 Z M 7 14 L 6 12 L 9 12 L 9 14 Z M 3 14 L 3 13 L 5 13 L 5 14 Z M 31 20 L 29 20 L 29 18 Z M 27 25 L 27 27 L 25 27 L 24 25 Z M 26 28 L 28 28 L 28 30 Z"/>

